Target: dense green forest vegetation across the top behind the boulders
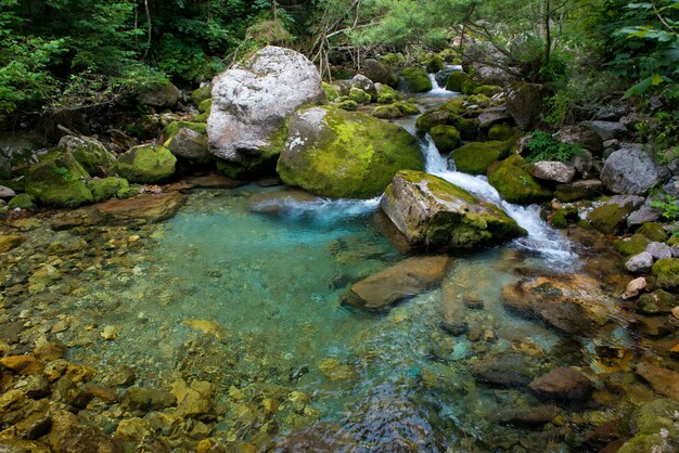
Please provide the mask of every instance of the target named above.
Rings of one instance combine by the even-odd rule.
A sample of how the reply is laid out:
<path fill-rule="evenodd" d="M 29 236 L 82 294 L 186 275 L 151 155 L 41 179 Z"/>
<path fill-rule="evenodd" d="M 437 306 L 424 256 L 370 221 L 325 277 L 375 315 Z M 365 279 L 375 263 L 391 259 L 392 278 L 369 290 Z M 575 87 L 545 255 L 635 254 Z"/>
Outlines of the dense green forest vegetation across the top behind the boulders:
<path fill-rule="evenodd" d="M 267 43 L 302 50 L 325 75 L 386 51 L 485 61 L 548 83 L 555 125 L 611 94 L 679 99 L 672 0 L 2 0 L 0 114 L 195 86 Z"/>

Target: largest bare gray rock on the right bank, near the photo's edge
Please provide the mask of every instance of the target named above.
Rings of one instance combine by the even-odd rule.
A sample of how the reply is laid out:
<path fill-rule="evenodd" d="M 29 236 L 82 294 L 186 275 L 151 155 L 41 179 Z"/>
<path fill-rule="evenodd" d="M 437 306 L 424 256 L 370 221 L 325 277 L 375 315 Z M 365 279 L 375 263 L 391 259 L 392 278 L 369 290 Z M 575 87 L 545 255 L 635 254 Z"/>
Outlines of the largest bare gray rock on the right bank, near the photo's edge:
<path fill-rule="evenodd" d="M 605 160 L 601 180 L 611 192 L 641 195 L 668 176 L 667 168 L 655 164 L 649 153 L 627 144 Z"/>

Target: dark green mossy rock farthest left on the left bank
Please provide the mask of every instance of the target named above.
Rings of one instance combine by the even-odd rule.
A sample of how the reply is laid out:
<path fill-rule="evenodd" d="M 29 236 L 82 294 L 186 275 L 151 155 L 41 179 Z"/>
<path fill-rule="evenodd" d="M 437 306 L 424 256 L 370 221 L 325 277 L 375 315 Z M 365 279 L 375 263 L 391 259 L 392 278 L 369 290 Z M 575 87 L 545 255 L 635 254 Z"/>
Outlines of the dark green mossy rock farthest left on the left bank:
<path fill-rule="evenodd" d="M 90 176 L 71 153 L 53 151 L 26 172 L 26 193 L 42 204 L 72 208 L 92 203 L 88 179 Z"/>

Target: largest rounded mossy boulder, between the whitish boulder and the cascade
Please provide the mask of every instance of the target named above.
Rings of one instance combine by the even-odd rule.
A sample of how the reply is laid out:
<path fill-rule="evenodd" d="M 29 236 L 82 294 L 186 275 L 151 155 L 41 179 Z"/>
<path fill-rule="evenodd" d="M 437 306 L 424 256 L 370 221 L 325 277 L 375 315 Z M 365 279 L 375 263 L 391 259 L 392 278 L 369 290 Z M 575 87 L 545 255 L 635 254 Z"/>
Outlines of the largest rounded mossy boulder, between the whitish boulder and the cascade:
<path fill-rule="evenodd" d="M 286 184 L 317 195 L 370 198 L 398 170 L 423 167 L 417 140 L 403 128 L 322 106 L 292 117 L 277 170 Z"/>

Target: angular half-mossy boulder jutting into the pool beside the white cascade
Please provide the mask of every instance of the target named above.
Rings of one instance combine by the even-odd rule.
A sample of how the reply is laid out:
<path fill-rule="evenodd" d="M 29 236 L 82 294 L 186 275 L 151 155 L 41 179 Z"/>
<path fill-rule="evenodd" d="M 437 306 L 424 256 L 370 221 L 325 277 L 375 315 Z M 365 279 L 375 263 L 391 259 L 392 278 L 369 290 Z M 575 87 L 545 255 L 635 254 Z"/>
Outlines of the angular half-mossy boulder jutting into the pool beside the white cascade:
<path fill-rule="evenodd" d="M 411 245 L 474 248 L 526 235 L 500 207 L 421 171 L 400 171 L 380 207 Z"/>

